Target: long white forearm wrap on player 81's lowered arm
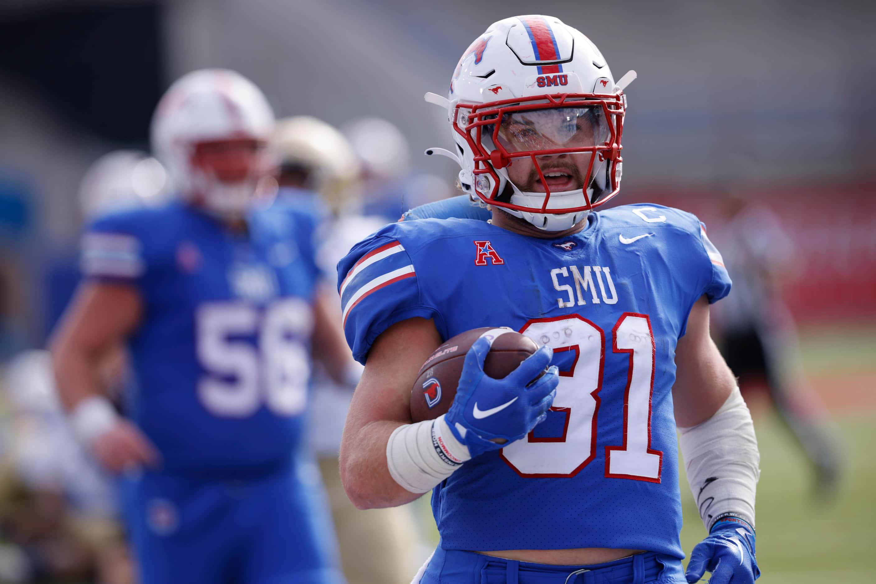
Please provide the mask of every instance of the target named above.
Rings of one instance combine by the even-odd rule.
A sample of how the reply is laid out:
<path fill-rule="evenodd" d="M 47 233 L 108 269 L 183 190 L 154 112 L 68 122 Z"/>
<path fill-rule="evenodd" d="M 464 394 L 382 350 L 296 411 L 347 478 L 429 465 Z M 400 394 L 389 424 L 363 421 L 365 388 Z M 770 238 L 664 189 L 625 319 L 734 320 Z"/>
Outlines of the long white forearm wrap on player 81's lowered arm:
<path fill-rule="evenodd" d="M 752 415 L 739 389 L 710 419 L 678 430 L 688 483 L 706 531 L 728 514 L 753 528 L 760 454 Z"/>

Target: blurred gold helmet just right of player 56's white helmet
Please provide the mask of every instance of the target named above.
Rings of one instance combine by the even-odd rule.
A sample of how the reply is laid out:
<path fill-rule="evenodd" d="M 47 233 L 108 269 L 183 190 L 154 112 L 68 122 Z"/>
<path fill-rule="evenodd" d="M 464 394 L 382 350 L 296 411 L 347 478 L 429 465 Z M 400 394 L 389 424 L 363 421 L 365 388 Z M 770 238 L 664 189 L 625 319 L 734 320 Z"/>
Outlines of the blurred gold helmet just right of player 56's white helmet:
<path fill-rule="evenodd" d="M 295 170 L 306 177 L 302 185 L 339 214 L 349 201 L 361 166 L 350 141 L 340 130 L 312 116 L 286 117 L 277 122 L 272 150 L 280 172 Z"/>

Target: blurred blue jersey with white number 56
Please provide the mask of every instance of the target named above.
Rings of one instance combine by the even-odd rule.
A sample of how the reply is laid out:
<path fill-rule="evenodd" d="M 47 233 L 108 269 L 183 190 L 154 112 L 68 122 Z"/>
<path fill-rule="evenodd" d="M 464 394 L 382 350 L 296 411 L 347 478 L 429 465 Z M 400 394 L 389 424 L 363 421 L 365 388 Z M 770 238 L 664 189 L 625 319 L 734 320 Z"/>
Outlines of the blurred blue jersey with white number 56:
<path fill-rule="evenodd" d="M 131 418 L 168 472 L 286 464 L 307 401 L 314 218 L 275 205 L 235 235 L 180 202 L 97 220 L 86 278 L 133 285 Z"/>

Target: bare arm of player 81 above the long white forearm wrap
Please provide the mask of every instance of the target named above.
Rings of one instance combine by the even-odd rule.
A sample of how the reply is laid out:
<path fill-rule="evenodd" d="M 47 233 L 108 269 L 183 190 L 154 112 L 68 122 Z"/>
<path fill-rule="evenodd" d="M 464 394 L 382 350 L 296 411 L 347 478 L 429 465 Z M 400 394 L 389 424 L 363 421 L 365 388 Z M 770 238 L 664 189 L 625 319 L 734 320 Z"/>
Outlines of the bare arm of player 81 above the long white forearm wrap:
<path fill-rule="evenodd" d="M 678 426 L 696 426 L 711 418 L 736 387 L 733 373 L 710 337 L 705 296 L 690 310 L 687 332 L 675 348 L 675 367 L 672 395 Z"/>

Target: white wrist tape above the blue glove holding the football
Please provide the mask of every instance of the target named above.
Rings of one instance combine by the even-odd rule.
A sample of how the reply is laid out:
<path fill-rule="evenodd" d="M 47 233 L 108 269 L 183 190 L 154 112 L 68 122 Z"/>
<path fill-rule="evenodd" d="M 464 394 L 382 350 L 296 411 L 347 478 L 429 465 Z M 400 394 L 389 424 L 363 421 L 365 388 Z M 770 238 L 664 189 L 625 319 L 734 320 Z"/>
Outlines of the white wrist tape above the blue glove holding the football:
<path fill-rule="evenodd" d="M 412 493 L 426 493 L 470 460 L 444 416 L 399 426 L 386 443 L 386 466 L 392 480 Z"/>

